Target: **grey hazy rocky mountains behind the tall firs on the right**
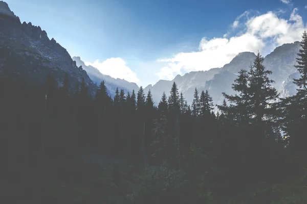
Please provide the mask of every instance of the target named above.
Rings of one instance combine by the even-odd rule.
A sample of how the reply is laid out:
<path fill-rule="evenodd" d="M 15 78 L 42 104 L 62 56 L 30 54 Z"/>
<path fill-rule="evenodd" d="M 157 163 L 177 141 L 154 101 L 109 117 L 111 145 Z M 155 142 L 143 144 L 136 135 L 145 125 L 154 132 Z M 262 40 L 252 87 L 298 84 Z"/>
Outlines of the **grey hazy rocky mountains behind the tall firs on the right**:
<path fill-rule="evenodd" d="M 296 93 L 296 86 L 292 83 L 292 79 L 298 77 L 294 65 L 299 48 L 299 42 L 283 44 L 265 57 L 264 65 L 273 72 L 270 78 L 275 83 L 272 85 L 280 92 L 281 97 Z M 172 81 L 160 80 L 153 86 L 149 85 L 145 90 L 150 88 L 155 102 L 159 103 L 163 91 L 168 96 L 172 83 L 176 82 L 179 92 L 183 93 L 189 104 L 192 103 L 195 87 L 199 89 L 199 92 L 208 90 L 214 104 L 221 104 L 224 99 L 222 92 L 234 93 L 231 85 L 237 78 L 238 71 L 249 69 L 255 57 L 256 55 L 251 52 L 239 53 L 222 68 L 190 72 L 183 76 L 178 75 Z"/>

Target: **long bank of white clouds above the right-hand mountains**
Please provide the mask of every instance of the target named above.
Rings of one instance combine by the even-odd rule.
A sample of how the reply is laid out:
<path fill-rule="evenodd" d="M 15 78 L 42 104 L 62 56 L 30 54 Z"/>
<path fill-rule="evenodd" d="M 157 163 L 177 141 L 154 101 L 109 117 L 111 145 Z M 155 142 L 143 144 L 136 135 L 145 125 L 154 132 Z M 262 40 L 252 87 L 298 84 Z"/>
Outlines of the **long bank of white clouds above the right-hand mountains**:
<path fill-rule="evenodd" d="M 235 36 L 228 37 L 228 32 L 222 38 L 204 37 L 200 41 L 199 52 L 179 53 L 170 59 L 159 60 L 165 63 L 157 73 L 159 78 L 172 80 L 183 72 L 222 67 L 241 52 L 256 53 L 259 50 L 262 55 L 268 54 L 264 52 L 271 52 L 276 46 L 300 40 L 306 28 L 297 9 L 293 10 L 288 20 L 271 11 L 254 16 L 250 16 L 247 11 L 236 18 L 232 29 L 233 25 L 243 26 Z"/>

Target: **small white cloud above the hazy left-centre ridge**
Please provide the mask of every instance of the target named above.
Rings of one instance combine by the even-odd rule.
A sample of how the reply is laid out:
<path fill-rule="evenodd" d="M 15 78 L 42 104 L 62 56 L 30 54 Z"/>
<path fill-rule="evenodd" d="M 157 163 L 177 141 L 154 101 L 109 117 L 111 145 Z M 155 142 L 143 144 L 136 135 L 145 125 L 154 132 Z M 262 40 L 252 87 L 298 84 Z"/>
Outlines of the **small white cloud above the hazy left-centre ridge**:
<path fill-rule="evenodd" d="M 96 60 L 94 63 L 85 62 L 85 65 L 96 67 L 101 73 L 113 78 L 124 79 L 128 82 L 135 83 L 140 81 L 137 74 L 126 66 L 126 62 L 121 58 L 109 58 L 104 62 L 99 62 L 99 60 Z"/>

